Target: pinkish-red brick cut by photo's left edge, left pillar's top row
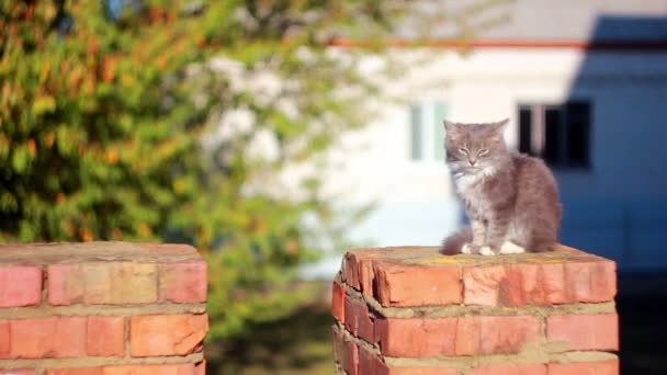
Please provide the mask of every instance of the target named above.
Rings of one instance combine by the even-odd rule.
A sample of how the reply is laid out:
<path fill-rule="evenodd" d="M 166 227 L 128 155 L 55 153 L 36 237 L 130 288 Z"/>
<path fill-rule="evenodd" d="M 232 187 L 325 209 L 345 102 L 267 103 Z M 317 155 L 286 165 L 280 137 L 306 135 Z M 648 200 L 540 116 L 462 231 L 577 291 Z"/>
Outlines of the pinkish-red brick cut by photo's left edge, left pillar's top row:
<path fill-rule="evenodd" d="M 42 300 L 42 269 L 0 266 L 0 307 L 37 305 Z"/>

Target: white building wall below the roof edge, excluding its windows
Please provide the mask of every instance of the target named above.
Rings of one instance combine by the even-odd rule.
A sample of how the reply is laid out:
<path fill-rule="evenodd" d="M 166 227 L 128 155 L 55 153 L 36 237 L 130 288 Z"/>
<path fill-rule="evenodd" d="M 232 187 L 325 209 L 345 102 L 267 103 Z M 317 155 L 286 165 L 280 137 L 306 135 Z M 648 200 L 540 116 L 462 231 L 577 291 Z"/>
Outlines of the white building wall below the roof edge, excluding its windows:
<path fill-rule="evenodd" d="M 509 117 L 506 140 L 517 147 L 519 103 L 587 99 L 591 168 L 555 171 L 566 207 L 564 240 L 614 258 L 622 269 L 667 266 L 667 257 L 652 255 L 664 243 L 659 230 L 636 240 L 646 230 L 636 225 L 642 219 L 667 224 L 667 214 L 653 209 L 667 202 L 667 53 L 397 49 L 394 57 L 411 68 L 386 80 L 385 91 L 404 102 L 373 103 L 380 115 L 331 154 L 339 168 L 329 175 L 330 191 L 349 192 L 349 202 L 378 203 L 358 238 L 437 245 L 460 225 L 443 163 L 410 160 L 409 103 L 442 100 L 446 117 L 459 122 Z"/>

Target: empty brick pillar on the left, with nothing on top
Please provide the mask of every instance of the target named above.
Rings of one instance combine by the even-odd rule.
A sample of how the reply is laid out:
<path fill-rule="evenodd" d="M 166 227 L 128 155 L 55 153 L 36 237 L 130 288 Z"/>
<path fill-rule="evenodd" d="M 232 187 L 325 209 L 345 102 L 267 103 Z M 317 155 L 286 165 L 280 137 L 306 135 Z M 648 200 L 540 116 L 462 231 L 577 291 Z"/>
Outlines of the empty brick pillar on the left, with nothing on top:
<path fill-rule="evenodd" d="M 0 375 L 203 375 L 205 303 L 190 246 L 0 246 Z"/>

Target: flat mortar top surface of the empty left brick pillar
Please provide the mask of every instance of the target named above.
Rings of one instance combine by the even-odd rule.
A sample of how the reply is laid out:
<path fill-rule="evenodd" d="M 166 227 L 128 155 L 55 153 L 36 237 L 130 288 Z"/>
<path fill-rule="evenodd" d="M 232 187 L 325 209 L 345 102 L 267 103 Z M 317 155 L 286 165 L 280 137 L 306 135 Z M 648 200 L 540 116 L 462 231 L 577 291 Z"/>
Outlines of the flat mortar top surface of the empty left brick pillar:
<path fill-rule="evenodd" d="M 189 245 L 129 242 L 53 242 L 0 245 L 0 265 L 46 265 L 77 262 L 136 262 L 201 259 Z"/>

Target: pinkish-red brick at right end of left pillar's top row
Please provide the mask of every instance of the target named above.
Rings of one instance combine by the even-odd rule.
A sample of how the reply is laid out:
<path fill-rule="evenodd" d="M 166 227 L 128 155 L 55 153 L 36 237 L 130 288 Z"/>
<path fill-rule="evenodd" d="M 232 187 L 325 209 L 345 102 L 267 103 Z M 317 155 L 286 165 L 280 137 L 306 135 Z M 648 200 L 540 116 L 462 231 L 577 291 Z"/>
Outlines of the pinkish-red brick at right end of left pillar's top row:
<path fill-rule="evenodd" d="M 161 263 L 159 272 L 159 300 L 177 304 L 206 302 L 206 262 L 203 260 Z"/>

